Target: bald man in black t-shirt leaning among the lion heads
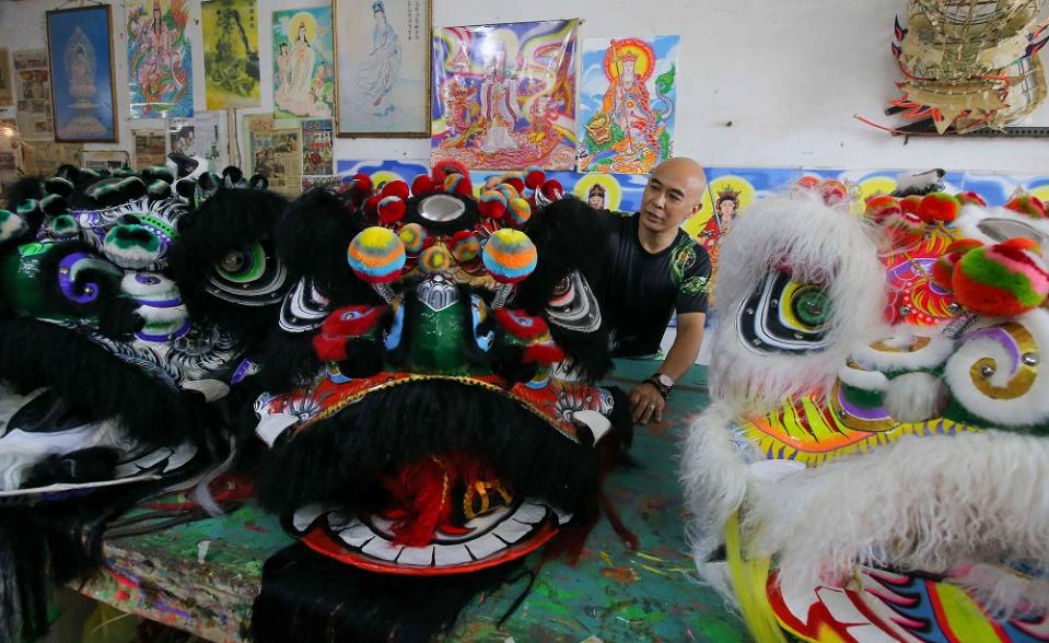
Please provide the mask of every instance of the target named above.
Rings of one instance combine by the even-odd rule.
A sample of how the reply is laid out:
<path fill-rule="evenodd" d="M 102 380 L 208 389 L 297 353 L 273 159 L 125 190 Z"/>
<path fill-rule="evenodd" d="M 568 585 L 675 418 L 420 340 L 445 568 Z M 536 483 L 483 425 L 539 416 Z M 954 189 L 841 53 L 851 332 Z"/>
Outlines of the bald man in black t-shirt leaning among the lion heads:
<path fill-rule="evenodd" d="M 630 391 L 633 420 L 663 420 L 674 383 L 696 363 L 703 341 L 710 258 L 681 223 L 703 202 L 707 178 L 691 159 L 669 159 L 649 175 L 634 215 L 609 213 L 610 232 L 602 276 L 602 312 L 613 327 L 614 354 L 654 356 L 671 315 L 677 337 L 658 370 Z"/>

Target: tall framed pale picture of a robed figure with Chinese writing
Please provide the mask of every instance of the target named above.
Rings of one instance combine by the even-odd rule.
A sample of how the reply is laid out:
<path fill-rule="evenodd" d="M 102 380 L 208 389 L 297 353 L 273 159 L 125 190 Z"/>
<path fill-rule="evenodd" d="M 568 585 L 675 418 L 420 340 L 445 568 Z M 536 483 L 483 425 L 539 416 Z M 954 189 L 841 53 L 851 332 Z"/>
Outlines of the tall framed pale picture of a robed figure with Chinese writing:
<path fill-rule="evenodd" d="M 336 136 L 430 136 L 431 0 L 333 0 Z"/>

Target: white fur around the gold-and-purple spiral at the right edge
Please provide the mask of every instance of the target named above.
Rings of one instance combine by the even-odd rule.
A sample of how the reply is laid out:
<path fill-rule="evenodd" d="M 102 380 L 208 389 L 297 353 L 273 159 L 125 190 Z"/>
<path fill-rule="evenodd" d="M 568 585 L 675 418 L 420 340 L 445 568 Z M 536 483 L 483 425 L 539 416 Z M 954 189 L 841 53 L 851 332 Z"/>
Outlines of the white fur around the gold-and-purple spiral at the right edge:
<path fill-rule="evenodd" d="M 951 393 L 969 412 L 994 422 L 1002 426 L 1027 426 L 1042 424 L 1049 421 L 1049 312 L 1036 308 L 1013 317 L 1007 322 L 1021 324 L 1030 332 L 1037 350 L 1034 356 L 1039 360 L 1037 375 L 1030 388 L 1014 399 L 1005 397 L 992 398 L 976 387 L 970 372 L 974 364 L 983 358 L 992 358 L 995 363 L 994 374 L 988 377 L 988 383 L 994 387 L 1003 387 L 1013 377 L 1012 372 L 1018 366 L 1006 347 L 989 337 L 972 337 L 961 342 L 958 350 L 947 360 L 944 369 L 944 379 Z M 980 328 L 1001 324 L 1001 320 L 987 320 L 969 332 Z M 1047 535 L 1049 539 L 1049 535 Z"/>

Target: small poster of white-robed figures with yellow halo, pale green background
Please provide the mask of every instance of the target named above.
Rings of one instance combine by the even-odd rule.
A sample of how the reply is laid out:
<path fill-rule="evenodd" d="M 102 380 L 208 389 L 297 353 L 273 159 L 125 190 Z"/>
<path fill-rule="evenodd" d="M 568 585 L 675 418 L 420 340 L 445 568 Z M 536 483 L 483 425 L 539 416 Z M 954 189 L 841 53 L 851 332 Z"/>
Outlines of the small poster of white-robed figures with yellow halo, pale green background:
<path fill-rule="evenodd" d="M 273 12 L 273 116 L 331 118 L 331 8 Z"/>

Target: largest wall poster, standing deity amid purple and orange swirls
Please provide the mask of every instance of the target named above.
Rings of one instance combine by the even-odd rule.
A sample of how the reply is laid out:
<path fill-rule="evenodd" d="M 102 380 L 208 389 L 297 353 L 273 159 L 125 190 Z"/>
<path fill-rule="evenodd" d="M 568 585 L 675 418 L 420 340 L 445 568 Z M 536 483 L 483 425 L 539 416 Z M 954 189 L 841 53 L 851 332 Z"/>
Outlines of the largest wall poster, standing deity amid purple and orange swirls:
<path fill-rule="evenodd" d="M 576 26 L 435 28 L 431 159 L 474 169 L 573 168 Z"/>

